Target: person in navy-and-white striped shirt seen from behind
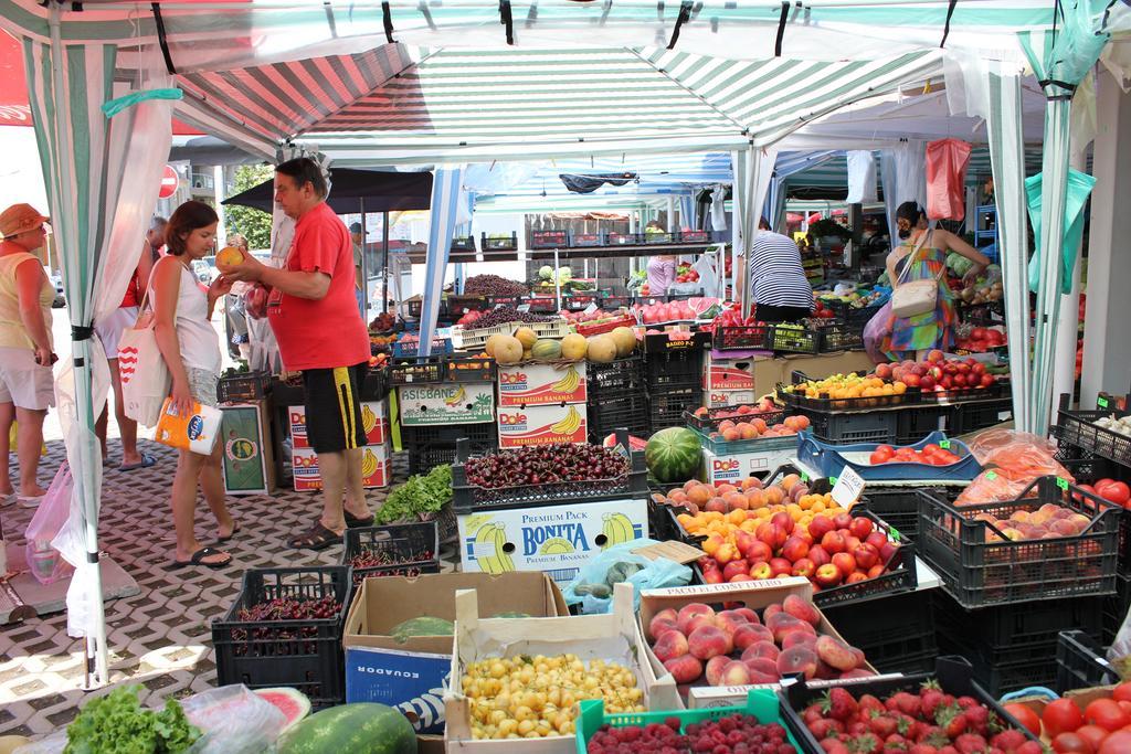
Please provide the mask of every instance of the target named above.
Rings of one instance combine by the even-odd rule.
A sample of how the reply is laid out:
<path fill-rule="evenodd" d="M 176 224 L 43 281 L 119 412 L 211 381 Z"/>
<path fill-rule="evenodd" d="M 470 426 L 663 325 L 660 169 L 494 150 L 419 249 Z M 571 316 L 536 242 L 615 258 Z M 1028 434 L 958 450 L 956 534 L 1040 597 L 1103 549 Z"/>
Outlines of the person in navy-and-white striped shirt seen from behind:
<path fill-rule="evenodd" d="M 770 231 L 761 218 L 750 251 L 750 300 L 763 322 L 797 322 L 813 310 L 813 288 L 801 266 L 801 252 L 788 236 Z M 742 261 L 745 265 L 745 260 Z"/>

